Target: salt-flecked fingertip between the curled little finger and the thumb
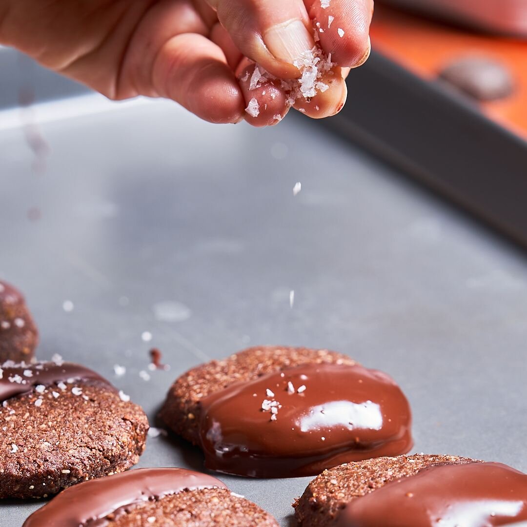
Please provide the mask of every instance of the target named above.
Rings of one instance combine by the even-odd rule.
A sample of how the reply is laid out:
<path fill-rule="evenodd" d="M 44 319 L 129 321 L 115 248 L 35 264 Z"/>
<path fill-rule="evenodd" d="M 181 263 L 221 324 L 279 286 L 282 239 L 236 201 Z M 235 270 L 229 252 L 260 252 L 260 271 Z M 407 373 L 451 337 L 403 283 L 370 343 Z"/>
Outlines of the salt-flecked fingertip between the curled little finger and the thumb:
<path fill-rule="evenodd" d="M 279 123 L 289 111 L 287 96 L 279 80 L 268 79 L 255 64 L 243 60 L 238 69 L 239 82 L 246 102 L 245 120 L 253 126 Z"/>

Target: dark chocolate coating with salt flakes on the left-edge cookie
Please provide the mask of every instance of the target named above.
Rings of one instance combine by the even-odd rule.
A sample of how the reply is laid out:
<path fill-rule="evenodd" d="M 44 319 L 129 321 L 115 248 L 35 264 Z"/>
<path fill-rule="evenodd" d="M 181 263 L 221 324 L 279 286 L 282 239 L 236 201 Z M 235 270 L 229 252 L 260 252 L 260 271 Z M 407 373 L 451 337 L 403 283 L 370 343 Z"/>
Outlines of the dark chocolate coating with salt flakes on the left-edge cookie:
<path fill-rule="evenodd" d="M 37 363 L 12 364 L 7 362 L 0 367 L 0 402 L 16 395 L 30 393 L 39 384 L 50 386 L 55 383 L 75 380 L 99 380 L 111 386 L 105 378 L 79 364 Z"/>

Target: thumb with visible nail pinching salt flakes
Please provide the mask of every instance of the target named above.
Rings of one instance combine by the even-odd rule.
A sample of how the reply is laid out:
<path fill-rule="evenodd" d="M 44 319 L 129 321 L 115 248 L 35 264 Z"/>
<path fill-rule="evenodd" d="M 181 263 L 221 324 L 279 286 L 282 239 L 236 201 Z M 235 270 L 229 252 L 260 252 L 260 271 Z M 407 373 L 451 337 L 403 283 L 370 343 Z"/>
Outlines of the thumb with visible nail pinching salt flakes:
<path fill-rule="evenodd" d="M 208 0 L 241 53 L 281 77 L 299 76 L 295 60 L 315 42 L 302 0 Z"/>

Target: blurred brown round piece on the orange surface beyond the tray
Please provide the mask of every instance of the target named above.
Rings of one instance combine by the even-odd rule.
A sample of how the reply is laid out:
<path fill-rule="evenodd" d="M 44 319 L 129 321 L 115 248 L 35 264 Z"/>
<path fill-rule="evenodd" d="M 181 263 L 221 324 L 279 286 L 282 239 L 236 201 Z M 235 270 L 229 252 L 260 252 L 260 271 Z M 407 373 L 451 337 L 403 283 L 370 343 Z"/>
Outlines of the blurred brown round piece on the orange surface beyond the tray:
<path fill-rule="evenodd" d="M 508 68 L 484 56 L 458 58 L 444 67 L 439 77 L 481 102 L 504 99 L 514 91 L 514 81 Z"/>

